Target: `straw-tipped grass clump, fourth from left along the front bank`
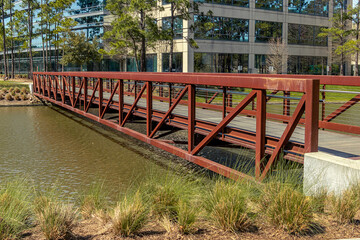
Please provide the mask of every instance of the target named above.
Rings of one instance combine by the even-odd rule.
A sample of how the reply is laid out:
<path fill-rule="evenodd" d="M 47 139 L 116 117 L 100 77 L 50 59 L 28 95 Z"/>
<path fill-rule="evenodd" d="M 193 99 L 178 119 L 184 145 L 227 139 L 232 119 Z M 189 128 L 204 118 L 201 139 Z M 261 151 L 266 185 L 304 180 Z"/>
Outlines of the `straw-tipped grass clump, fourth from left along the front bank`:
<path fill-rule="evenodd" d="M 124 197 L 110 215 L 111 228 L 116 235 L 130 236 L 138 232 L 148 221 L 149 210 L 140 193 Z"/>

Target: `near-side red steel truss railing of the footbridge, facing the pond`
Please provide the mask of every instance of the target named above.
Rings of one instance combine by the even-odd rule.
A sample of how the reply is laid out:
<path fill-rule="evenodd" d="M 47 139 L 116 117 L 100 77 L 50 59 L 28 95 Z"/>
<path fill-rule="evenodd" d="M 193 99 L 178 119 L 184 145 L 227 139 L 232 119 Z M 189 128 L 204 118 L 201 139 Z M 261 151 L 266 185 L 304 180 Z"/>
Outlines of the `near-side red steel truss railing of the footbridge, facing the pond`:
<path fill-rule="evenodd" d="M 231 178 L 262 179 L 281 152 L 285 158 L 301 162 L 304 153 L 317 151 L 319 86 L 319 80 L 284 76 L 34 73 L 36 96 Z M 297 96 L 293 111 L 277 119 L 281 126 L 276 129 L 278 135 L 267 132 L 267 119 L 272 117 L 267 112 L 267 101 L 272 97 L 268 93 L 275 95 L 275 91 Z M 221 104 L 214 104 L 219 99 Z M 244 117 L 240 119 L 239 114 Z M 146 119 L 146 133 L 127 127 L 133 115 Z M 301 122 L 302 140 L 293 141 Z M 177 147 L 174 141 L 161 139 L 164 124 L 186 130 L 187 146 Z M 195 134 L 202 137 L 197 139 Z M 199 156 L 213 139 L 254 149 L 254 176 Z"/>

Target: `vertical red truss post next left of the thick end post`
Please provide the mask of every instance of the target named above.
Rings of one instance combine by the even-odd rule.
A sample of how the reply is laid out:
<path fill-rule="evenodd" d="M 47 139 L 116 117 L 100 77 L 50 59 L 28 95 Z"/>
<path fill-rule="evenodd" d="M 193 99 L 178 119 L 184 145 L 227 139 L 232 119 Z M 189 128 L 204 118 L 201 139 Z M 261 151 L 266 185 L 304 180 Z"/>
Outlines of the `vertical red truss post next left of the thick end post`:
<path fill-rule="evenodd" d="M 266 137 L 266 91 L 256 90 L 256 146 L 255 146 L 255 177 L 260 179 L 261 161 L 265 156 Z"/>

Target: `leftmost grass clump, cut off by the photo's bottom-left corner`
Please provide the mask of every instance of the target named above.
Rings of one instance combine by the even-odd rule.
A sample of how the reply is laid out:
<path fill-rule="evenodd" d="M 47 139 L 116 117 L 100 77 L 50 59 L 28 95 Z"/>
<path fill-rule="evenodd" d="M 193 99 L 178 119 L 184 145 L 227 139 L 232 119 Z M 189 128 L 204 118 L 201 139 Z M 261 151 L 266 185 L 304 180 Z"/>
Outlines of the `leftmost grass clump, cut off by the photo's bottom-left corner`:
<path fill-rule="evenodd" d="M 12 180 L 0 189 L 0 239 L 15 239 L 29 228 L 31 208 L 25 180 Z"/>

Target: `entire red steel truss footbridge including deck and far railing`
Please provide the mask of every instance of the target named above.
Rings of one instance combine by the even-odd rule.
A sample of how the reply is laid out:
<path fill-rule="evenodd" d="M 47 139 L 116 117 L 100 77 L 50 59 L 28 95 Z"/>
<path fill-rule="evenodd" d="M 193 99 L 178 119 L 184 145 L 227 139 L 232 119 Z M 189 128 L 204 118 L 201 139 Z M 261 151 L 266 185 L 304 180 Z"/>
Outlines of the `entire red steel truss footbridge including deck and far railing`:
<path fill-rule="evenodd" d="M 233 179 L 262 180 L 280 155 L 299 163 L 316 151 L 360 156 L 357 77 L 36 72 L 33 82 L 41 99 Z M 144 131 L 127 126 L 132 117 L 144 119 Z M 187 131 L 181 147 L 162 138 L 166 125 Z M 215 139 L 252 149 L 254 175 L 200 156 Z"/>

